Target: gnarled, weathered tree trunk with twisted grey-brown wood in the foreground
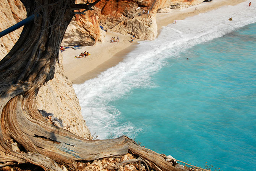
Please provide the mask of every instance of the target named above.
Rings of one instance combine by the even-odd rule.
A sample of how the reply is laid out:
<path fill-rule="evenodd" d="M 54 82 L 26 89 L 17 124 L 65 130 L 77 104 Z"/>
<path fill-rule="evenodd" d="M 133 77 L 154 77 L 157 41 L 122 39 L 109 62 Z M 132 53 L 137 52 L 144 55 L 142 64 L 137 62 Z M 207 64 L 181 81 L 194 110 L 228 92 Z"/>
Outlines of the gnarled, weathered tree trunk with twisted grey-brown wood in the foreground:
<path fill-rule="evenodd" d="M 0 61 L 0 166 L 33 163 L 45 171 L 61 171 L 58 164 L 63 164 L 77 170 L 75 161 L 120 156 L 130 151 L 161 169 L 180 170 L 128 137 L 89 141 L 44 120 L 35 98 L 39 88 L 54 76 L 55 60 L 73 18 L 72 10 L 81 8 L 75 0 L 22 2 L 27 16 L 39 15 L 35 22 L 24 26 L 18 42 Z M 24 151 L 12 150 L 7 143 L 10 139 L 21 144 Z"/>

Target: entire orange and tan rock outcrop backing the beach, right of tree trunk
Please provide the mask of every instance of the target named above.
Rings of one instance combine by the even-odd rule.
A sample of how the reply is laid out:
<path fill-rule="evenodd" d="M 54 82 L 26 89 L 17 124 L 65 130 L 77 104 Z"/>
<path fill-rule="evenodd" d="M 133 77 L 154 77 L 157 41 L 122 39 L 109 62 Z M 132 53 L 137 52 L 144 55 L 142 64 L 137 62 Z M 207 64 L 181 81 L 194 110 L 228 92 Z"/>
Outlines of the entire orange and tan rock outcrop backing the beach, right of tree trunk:
<path fill-rule="evenodd" d="M 79 0 L 79 3 L 81 2 L 86 3 L 86 0 Z M 143 9 L 146 10 L 150 2 L 151 0 L 101 0 L 96 4 L 94 11 L 76 16 L 68 26 L 62 45 L 86 46 L 102 41 L 104 31 L 100 26 L 106 31 L 153 40 L 157 35 L 156 13 L 149 16 L 146 12 L 143 13 Z M 84 37 L 89 41 L 84 41 Z"/>

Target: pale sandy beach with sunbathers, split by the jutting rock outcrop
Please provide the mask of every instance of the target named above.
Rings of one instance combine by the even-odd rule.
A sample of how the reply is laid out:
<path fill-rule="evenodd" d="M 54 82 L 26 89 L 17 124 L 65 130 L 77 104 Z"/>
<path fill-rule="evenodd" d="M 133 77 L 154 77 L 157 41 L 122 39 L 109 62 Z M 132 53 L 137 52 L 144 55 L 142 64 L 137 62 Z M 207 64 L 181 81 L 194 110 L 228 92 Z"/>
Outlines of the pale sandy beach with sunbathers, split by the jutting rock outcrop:
<path fill-rule="evenodd" d="M 221 6 L 237 5 L 238 3 L 245 2 L 246 0 L 213 0 L 207 3 L 190 6 L 185 9 L 172 10 L 170 13 L 157 13 L 157 29 L 158 34 L 163 26 L 171 24 L 177 19 L 183 20 L 185 18 L 205 13 Z M 194 8 L 197 10 L 194 10 Z M 119 42 L 111 43 L 111 37 L 119 37 Z M 73 84 L 81 84 L 86 80 L 97 77 L 104 70 L 117 65 L 123 60 L 125 54 L 132 51 L 137 42 L 140 41 L 135 38 L 131 43 L 131 35 L 122 35 L 114 32 L 105 32 L 104 42 L 97 42 L 93 46 L 84 46 L 80 49 L 73 50 L 68 48 L 62 52 L 64 75 L 68 77 Z M 88 51 L 90 55 L 86 58 L 74 58 L 81 52 Z"/>

